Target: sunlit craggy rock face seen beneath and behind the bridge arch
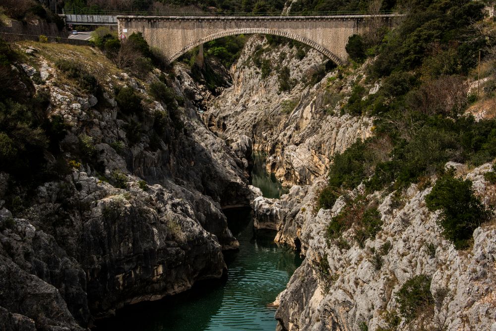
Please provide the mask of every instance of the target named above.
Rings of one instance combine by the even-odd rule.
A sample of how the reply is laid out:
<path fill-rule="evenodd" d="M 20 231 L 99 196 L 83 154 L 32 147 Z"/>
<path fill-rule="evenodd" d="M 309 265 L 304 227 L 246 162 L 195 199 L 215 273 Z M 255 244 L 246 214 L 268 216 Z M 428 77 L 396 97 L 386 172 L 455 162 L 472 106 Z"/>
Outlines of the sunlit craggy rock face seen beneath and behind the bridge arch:
<path fill-rule="evenodd" d="M 253 64 L 261 50 L 266 52 L 258 56 L 279 68 L 265 78 Z M 233 141 L 251 137 L 255 150 L 269 153 L 267 170 L 286 186 L 311 184 L 327 172 L 332 154 L 369 137 L 372 127 L 370 118 L 336 114 L 351 90 L 351 76 L 339 80 L 337 70 L 325 74 L 329 63 L 314 50 L 302 60 L 297 53 L 296 47 L 273 50 L 265 38 L 252 37 L 231 68 L 233 86 L 211 99 L 203 114 L 205 124 L 219 137 Z M 290 92 L 280 90 L 284 67 L 294 85 Z"/>

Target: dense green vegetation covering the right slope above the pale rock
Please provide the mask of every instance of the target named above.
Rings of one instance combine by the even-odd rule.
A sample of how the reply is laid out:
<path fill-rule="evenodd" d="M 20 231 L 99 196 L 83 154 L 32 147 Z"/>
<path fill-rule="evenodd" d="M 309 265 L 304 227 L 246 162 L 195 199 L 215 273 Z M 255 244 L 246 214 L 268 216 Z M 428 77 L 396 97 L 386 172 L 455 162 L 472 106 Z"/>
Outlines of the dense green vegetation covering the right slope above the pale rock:
<path fill-rule="evenodd" d="M 481 165 L 496 157 L 496 121 L 464 115 L 473 102 L 467 75 L 479 51 L 485 59 L 493 49 L 491 29 L 484 27 L 492 23 L 481 21 L 483 4 L 409 5 L 400 26 L 372 45 L 378 53 L 367 79 L 355 83 L 343 108 L 374 116 L 373 136 L 333 156 L 329 186 L 318 207 L 331 208 L 335 197 L 361 182 L 369 192 L 394 190 L 439 174 L 448 161 Z M 354 38 L 349 46 L 356 44 Z M 373 55 L 362 51 L 361 56 Z M 365 84 L 379 79 L 378 92 L 368 94 Z M 329 192 L 332 197 L 322 197 Z"/>

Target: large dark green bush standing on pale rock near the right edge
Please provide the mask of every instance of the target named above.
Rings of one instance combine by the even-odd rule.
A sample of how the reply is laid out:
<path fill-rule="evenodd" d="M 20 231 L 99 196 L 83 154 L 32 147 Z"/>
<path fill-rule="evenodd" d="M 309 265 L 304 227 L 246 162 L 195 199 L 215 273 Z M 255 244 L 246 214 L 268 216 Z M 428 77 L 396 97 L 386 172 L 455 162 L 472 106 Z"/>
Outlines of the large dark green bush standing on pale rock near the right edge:
<path fill-rule="evenodd" d="M 441 210 L 437 222 L 456 249 L 466 248 L 474 230 L 492 216 L 475 196 L 472 181 L 453 177 L 453 171 L 437 179 L 426 205 L 430 211 Z"/>

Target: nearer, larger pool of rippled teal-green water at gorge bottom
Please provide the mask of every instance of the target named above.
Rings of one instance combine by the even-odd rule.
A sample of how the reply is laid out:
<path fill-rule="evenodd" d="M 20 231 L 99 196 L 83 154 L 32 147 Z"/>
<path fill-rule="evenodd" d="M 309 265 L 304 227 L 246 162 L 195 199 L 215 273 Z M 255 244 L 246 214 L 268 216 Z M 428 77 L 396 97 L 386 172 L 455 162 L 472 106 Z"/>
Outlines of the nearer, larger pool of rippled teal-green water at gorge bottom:
<path fill-rule="evenodd" d="M 301 264 L 291 247 L 274 243 L 274 232 L 253 232 L 249 209 L 226 211 L 240 250 L 226 252 L 227 279 L 208 280 L 182 294 L 126 307 L 100 330 L 275 330 L 268 307 Z"/>

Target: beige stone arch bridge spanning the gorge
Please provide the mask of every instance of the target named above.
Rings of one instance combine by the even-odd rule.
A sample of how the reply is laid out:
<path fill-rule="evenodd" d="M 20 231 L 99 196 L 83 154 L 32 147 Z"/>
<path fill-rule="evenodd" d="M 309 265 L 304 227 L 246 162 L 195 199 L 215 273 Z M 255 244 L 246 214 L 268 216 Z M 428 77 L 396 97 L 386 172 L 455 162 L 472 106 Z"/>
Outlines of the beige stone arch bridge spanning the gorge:
<path fill-rule="evenodd" d="M 398 15 L 345 16 L 117 16 L 119 35 L 142 32 L 150 46 L 158 47 L 169 62 L 196 46 L 239 34 L 270 34 L 294 39 L 314 48 L 337 64 L 347 61 L 348 37 L 361 31 L 367 20 L 391 25 Z"/>

